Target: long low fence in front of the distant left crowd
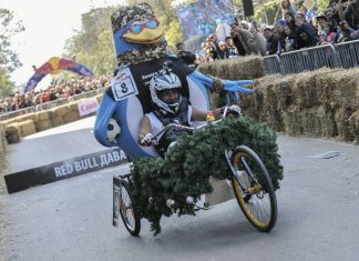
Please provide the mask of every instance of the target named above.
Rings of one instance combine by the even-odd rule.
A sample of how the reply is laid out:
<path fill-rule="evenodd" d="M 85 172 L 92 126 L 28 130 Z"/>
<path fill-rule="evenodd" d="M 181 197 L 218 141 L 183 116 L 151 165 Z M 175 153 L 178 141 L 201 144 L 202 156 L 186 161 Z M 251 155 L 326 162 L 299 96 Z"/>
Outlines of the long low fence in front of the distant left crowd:
<path fill-rule="evenodd" d="M 24 109 L 19 109 L 16 111 L 10 111 L 10 112 L 6 112 L 3 114 L 0 114 L 0 121 L 4 121 L 4 120 L 9 120 L 12 118 L 16 118 L 18 116 L 23 116 L 27 113 L 31 113 L 31 112 L 37 112 L 37 111 L 42 111 L 42 110 L 49 110 L 59 106 L 63 106 L 66 104 L 71 101 L 78 101 L 81 99 L 85 99 L 85 98 L 90 98 L 90 97 L 94 97 L 96 94 L 103 93 L 109 87 L 101 87 L 96 90 L 92 90 L 92 91 L 86 91 L 86 92 L 82 92 L 75 96 L 71 96 L 69 98 L 62 98 L 59 100 L 54 100 L 54 101 L 49 101 L 47 103 L 41 103 L 38 104 L 35 107 L 29 107 L 29 108 L 24 108 Z"/>

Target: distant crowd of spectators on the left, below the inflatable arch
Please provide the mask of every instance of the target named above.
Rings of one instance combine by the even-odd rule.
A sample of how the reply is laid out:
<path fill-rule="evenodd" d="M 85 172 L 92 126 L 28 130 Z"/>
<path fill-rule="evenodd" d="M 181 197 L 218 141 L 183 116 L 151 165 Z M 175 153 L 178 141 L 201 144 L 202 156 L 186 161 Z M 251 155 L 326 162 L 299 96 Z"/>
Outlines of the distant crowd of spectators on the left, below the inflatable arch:
<path fill-rule="evenodd" d="M 0 113 L 7 113 L 35 107 L 42 103 L 51 102 L 59 99 L 68 99 L 71 96 L 96 90 L 109 86 L 110 76 L 93 78 L 71 78 L 68 81 L 52 81 L 44 90 L 29 91 L 25 93 L 16 92 L 10 97 L 0 99 Z"/>

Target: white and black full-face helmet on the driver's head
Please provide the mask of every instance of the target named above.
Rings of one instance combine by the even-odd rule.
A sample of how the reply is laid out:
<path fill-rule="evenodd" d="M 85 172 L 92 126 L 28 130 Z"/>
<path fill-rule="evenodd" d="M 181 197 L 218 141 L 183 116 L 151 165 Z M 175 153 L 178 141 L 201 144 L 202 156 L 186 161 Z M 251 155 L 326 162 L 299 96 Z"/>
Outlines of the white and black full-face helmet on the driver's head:
<path fill-rule="evenodd" d="M 177 113 L 182 102 L 181 96 L 181 80 L 180 78 L 168 70 L 162 70 L 157 76 L 153 77 L 150 82 L 150 91 L 153 104 L 163 114 Z M 175 102 L 166 103 L 161 100 L 161 92 L 165 90 L 178 90 L 178 99 Z"/>

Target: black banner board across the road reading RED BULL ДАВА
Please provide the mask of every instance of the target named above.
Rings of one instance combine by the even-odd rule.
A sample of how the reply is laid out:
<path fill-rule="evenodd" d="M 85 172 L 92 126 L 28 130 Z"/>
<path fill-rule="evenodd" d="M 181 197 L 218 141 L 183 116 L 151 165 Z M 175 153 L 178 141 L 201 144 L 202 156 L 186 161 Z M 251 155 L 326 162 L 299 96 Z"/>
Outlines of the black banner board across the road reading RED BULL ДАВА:
<path fill-rule="evenodd" d="M 8 192 L 13 193 L 34 185 L 73 178 L 124 162 L 127 162 L 127 158 L 123 150 L 114 148 L 7 174 L 4 180 Z"/>

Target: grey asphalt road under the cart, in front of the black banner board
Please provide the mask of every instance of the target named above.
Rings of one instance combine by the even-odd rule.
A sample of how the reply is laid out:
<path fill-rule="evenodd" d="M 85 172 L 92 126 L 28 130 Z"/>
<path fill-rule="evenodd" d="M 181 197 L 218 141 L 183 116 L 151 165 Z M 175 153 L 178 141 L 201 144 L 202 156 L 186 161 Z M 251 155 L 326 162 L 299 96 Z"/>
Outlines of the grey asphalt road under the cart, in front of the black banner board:
<path fill-rule="evenodd" d="M 2 195 L 0 260 L 358 260 L 359 147 L 285 135 L 278 143 L 285 178 L 269 233 L 230 200 L 196 217 L 165 218 L 157 237 L 142 220 L 140 237 L 131 237 L 111 220 L 112 177 L 125 173 L 123 165 Z M 340 155 L 310 158 L 327 151 Z"/>

